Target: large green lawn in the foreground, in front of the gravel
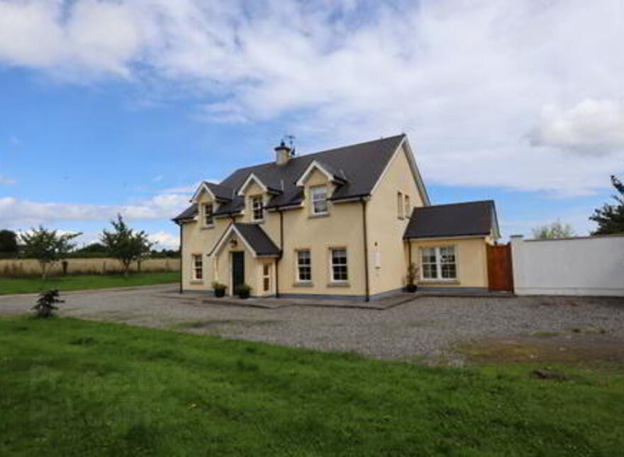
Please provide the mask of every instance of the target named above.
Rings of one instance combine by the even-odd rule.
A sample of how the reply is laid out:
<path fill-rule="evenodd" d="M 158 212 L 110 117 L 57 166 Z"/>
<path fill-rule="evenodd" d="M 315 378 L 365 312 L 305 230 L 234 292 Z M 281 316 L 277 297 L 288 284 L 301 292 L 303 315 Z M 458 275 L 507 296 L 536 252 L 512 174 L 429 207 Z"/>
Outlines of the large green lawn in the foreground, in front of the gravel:
<path fill-rule="evenodd" d="M 624 376 L 0 319 L 0 455 L 616 456 Z"/>

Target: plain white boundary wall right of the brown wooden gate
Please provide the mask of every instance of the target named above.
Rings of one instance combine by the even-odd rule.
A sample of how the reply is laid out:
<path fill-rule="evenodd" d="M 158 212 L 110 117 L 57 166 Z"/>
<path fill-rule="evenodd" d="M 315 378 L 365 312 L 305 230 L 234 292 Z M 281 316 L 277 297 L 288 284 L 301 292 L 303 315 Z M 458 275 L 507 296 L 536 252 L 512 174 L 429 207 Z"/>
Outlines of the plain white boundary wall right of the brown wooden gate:
<path fill-rule="evenodd" d="M 624 235 L 562 239 L 511 237 L 518 295 L 624 296 Z"/>

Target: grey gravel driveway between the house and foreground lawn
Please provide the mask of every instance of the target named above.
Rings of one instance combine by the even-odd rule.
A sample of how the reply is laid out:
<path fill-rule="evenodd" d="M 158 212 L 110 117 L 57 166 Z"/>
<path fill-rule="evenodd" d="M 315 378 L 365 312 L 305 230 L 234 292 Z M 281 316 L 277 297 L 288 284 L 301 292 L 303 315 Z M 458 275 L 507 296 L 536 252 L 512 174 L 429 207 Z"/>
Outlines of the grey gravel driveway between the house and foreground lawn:
<path fill-rule="evenodd" d="M 65 295 L 62 315 L 381 359 L 435 360 L 474 339 L 585 331 L 624 338 L 624 298 L 420 297 L 387 310 L 201 303 L 172 286 Z M 0 296 L 0 313 L 25 312 L 33 295 Z M 623 340 L 624 341 L 624 340 Z"/>

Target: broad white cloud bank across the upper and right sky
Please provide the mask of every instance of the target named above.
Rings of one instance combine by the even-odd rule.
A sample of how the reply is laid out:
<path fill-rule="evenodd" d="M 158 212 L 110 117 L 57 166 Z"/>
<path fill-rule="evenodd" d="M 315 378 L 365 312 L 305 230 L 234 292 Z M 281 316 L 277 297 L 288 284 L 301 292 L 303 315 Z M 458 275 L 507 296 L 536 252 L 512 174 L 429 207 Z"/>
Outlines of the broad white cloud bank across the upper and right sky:
<path fill-rule="evenodd" d="M 0 62 L 174 81 L 196 115 L 282 120 L 301 152 L 405 131 L 428 183 L 576 195 L 624 163 L 623 18 L 620 0 L 4 0 Z"/>

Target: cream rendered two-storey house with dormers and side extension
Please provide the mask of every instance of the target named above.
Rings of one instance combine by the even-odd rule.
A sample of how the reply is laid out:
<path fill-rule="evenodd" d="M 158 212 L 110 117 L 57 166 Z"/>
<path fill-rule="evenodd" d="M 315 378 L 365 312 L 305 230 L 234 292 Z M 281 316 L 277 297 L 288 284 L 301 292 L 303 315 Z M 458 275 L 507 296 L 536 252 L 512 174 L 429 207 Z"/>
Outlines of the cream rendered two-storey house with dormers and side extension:
<path fill-rule="evenodd" d="M 406 135 L 275 160 L 204 182 L 174 218 L 182 290 L 369 300 L 406 285 L 488 287 L 494 202 L 430 205 Z"/>

